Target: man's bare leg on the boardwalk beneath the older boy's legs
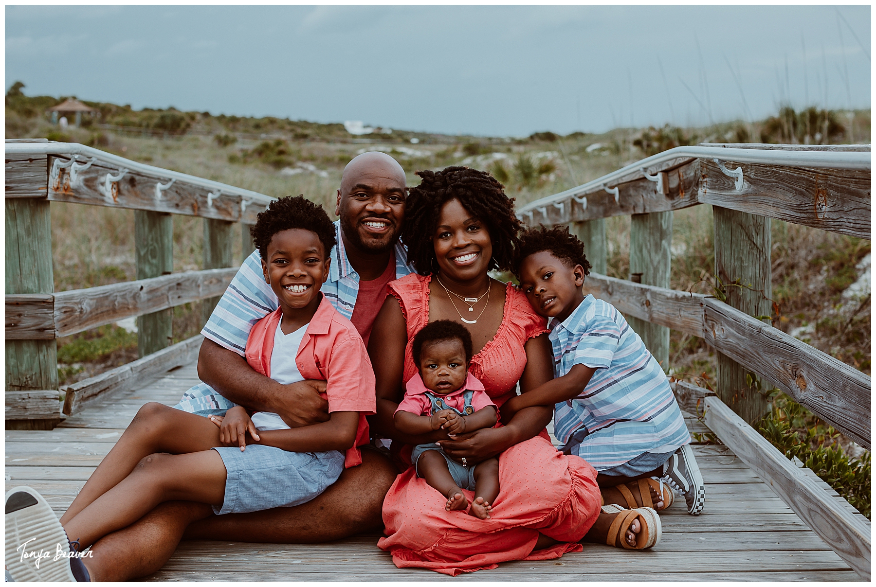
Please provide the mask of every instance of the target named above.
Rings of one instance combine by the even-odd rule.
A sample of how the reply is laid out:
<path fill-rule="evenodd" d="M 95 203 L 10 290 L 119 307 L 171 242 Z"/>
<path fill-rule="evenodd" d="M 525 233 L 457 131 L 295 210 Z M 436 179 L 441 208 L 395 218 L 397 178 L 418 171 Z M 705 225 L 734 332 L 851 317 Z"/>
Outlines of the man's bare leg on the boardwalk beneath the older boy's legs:
<path fill-rule="evenodd" d="M 129 581 L 160 570 L 181 539 L 306 544 L 380 531 L 383 500 L 399 472 L 375 451 L 362 451 L 362 461 L 300 506 L 216 516 L 204 504 L 168 501 L 95 542 L 94 555 L 82 560 L 93 581 Z"/>

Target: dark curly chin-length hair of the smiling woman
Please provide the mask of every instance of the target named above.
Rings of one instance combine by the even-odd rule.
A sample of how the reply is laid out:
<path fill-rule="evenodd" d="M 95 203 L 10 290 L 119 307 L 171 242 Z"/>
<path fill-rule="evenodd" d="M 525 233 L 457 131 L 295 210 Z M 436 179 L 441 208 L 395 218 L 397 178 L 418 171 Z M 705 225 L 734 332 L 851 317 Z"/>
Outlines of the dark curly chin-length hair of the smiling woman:
<path fill-rule="evenodd" d="M 514 215 L 514 199 L 505 195 L 502 184 L 486 171 L 468 167 L 417 171 L 416 175 L 422 182 L 408 193 L 401 240 L 407 246 L 407 262 L 413 263 L 417 273 L 421 276 L 434 273 L 432 236 L 442 206 L 451 199 L 458 199 L 490 233 L 493 241 L 490 269 L 511 269 L 521 225 Z"/>

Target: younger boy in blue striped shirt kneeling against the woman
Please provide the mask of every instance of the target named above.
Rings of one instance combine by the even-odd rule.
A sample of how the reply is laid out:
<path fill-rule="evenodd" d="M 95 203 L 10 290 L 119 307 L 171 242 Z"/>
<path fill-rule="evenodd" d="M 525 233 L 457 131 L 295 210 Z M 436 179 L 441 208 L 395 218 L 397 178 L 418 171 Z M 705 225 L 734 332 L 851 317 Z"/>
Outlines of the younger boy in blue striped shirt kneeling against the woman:
<path fill-rule="evenodd" d="M 582 242 L 567 227 L 527 229 L 514 269 L 533 309 L 548 318 L 555 379 L 506 402 L 503 419 L 555 404 L 560 450 L 593 465 L 605 502 L 664 509 L 672 502 L 666 482 L 689 514 L 700 514 L 703 477 L 666 374 L 614 306 L 584 297 L 590 262 Z"/>

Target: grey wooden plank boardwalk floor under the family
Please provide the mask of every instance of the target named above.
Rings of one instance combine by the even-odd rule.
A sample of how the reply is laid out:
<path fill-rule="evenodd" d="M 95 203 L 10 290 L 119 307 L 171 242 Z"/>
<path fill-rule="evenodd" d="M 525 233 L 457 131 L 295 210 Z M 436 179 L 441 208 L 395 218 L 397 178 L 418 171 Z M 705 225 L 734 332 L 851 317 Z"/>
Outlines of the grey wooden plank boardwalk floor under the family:
<path fill-rule="evenodd" d="M 6 488 L 32 486 L 60 516 L 145 402 L 173 405 L 194 385 L 194 363 L 99 402 L 51 431 L 7 430 Z M 701 423 L 689 422 L 692 431 Z M 555 561 L 503 563 L 451 578 L 396 569 L 378 535 L 325 544 L 182 542 L 160 581 L 860 581 L 769 486 L 724 445 L 695 446 L 706 507 L 695 517 L 682 499 L 661 513 L 656 549 L 585 544 Z M 824 484 L 823 484 L 824 485 Z M 835 499 L 830 487 L 825 491 Z M 849 506 L 851 507 L 851 506 Z M 860 514 L 858 514 L 860 515 Z"/>

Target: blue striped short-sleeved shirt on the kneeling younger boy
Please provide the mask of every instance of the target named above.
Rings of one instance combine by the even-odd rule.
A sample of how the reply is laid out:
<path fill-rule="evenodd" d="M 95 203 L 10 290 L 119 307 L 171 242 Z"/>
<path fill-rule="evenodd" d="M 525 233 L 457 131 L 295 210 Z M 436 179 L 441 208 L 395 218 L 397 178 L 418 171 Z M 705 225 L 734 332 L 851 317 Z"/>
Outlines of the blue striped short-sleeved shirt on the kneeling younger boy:
<path fill-rule="evenodd" d="M 555 435 L 572 454 L 605 471 L 690 442 L 660 363 L 613 305 L 588 295 L 562 323 L 551 320 L 548 337 L 555 377 L 596 368 L 580 395 L 555 406 Z"/>

